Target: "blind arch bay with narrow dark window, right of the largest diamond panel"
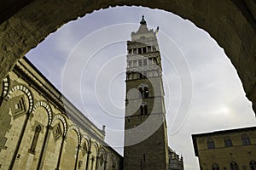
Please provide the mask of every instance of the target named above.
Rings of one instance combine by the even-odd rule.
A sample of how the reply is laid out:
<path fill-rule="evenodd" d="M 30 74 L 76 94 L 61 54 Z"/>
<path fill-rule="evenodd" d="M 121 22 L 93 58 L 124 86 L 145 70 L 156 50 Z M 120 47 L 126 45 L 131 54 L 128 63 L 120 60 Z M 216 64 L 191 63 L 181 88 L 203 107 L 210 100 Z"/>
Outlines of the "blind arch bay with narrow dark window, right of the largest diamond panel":
<path fill-rule="evenodd" d="M 30 116 L 19 150 L 19 153 L 26 153 L 28 150 L 28 154 L 20 156 L 19 161 L 15 162 L 14 168 L 16 169 L 37 169 L 40 163 L 40 156 L 44 153 L 45 143 L 49 136 L 49 125 L 52 119 L 52 111 L 49 104 L 44 100 L 38 101 L 33 106 Z M 32 161 L 26 162 L 30 159 Z"/>

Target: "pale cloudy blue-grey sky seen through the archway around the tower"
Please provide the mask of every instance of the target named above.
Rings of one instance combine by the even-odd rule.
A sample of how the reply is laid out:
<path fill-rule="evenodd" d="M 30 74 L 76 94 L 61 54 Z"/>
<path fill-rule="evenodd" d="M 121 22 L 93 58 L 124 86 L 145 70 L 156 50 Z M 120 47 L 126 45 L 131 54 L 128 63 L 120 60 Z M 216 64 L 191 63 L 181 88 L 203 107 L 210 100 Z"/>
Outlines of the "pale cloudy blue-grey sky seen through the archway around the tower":
<path fill-rule="evenodd" d="M 126 41 L 142 15 L 157 34 L 165 88 L 168 144 L 187 170 L 199 169 L 191 134 L 255 126 L 252 104 L 224 49 L 176 14 L 116 7 L 68 22 L 26 57 L 123 154 Z"/>

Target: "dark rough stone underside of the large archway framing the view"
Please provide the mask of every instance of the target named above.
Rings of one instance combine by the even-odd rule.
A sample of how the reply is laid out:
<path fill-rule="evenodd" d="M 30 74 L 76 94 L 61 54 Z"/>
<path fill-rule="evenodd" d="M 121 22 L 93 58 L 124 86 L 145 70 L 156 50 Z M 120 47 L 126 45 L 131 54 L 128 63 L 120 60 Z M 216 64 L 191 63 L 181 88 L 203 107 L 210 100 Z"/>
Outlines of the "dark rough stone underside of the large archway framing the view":
<path fill-rule="evenodd" d="M 256 112 L 256 3 L 253 0 L 12 0 L 0 8 L 0 81 L 51 32 L 100 8 L 159 8 L 191 20 L 224 48 Z"/>

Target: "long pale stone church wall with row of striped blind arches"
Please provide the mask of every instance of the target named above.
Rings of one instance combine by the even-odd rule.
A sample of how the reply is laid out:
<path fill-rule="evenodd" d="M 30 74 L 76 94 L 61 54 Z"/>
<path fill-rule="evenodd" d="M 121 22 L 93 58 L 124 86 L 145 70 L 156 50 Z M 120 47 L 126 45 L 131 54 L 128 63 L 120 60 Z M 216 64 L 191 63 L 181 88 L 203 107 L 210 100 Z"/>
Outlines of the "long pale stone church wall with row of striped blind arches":
<path fill-rule="evenodd" d="M 0 169 L 122 169 L 122 156 L 26 58 L 0 85 Z"/>

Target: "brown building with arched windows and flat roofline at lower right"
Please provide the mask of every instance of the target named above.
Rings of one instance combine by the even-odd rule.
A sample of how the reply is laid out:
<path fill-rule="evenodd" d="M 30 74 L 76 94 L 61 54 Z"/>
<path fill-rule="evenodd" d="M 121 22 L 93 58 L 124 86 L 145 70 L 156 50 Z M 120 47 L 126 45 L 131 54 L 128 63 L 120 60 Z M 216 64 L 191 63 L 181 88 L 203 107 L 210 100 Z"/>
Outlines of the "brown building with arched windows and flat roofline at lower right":
<path fill-rule="evenodd" d="M 201 170 L 256 170 L 256 127 L 192 135 Z"/>

